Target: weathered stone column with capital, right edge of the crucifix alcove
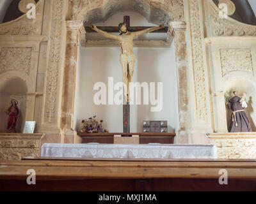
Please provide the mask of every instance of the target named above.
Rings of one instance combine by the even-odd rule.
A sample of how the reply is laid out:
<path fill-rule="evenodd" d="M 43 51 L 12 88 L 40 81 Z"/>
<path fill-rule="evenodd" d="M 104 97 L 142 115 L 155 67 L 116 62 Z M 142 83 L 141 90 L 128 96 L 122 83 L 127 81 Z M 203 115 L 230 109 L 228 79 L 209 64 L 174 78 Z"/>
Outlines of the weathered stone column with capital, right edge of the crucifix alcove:
<path fill-rule="evenodd" d="M 172 22 L 170 31 L 174 34 L 175 58 L 177 70 L 177 91 L 179 106 L 179 131 L 175 143 L 189 143 L 189 89 L 188 89 L 188 61 L 186 54 L 186 23 Z"/>

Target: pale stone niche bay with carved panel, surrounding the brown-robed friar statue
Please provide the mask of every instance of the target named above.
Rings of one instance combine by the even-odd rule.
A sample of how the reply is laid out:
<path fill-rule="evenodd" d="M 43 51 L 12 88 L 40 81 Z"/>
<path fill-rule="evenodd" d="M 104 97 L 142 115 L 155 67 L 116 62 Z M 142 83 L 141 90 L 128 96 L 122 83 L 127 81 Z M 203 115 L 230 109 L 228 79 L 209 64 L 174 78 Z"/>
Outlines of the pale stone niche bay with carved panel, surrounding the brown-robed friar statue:
<path fill-rule="evenodd" d="M 205 38 L 209 73 L 211 80 L 214 131 L 227 133 L 231 113 L 225 105 L 225 92 L 233 96 L 247 93 L 248 108 L 246 114 L 250 119 L 252 131 L 256 131 L 256 91 L 255 64 L 256 38 L 254 36 L 221 36 Z"/>

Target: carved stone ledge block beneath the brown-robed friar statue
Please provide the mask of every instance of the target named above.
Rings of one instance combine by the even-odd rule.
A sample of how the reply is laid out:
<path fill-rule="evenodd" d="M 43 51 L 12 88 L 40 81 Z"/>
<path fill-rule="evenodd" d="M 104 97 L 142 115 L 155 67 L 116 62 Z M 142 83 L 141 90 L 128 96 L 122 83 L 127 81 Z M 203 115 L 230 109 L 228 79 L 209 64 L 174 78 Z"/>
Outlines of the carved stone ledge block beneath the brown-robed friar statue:
<path fill-rule="evenodd" d="M 213 133 L 208 137 L 217 147 L 218 159 L 256 159 L 255 133 Z"/>

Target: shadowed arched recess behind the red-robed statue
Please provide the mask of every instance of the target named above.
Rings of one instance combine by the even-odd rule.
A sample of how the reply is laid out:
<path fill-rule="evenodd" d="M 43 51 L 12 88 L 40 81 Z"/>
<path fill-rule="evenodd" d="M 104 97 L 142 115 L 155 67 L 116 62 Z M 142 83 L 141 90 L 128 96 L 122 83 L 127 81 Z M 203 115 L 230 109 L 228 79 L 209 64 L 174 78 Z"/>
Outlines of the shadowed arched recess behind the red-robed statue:
<path fill-rule="evenodd" d="M 19 115 L 17 119 L 16 131 L 22 133 L 26 119 L 26 94 L 28 88 L 26 82 L 19 77 L 0 83 L 0 132 L 4 133 L 7 128 L 8 115 L 5 113 L 10 107 L 11 99 L 16 99 L 19 104 Z"/>

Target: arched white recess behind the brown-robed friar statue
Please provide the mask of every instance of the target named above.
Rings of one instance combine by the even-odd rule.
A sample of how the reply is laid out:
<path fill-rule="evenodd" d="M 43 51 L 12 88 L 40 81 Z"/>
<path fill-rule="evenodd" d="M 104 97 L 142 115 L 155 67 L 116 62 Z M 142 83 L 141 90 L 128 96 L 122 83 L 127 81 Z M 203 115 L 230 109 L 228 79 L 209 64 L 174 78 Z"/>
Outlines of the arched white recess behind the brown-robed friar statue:
<path fill-rule="evenodd" d="M 240 77 L 233 78 L 227 83 L 225 92 L 228 92 L 228 94 L 230 94 L 230 98 L 232 98 L 234 96 L 232 93 L 233 91 L 237 91 L 239 97 L 243 96 L 243 92 L 246 92 L 246 102 L 248 107 L 246 108 L 245 112 L 250 121 L 252 131 L 255 132 L 256 131 L 256 126 L 254 122 L 256 121 L 256 113 L 254 112 L 256 108 L 255 102 L 254 102 L 256 100 L 255 83 L 245 78 L 240 78 Z M 226 106 L 226 115 L 227 115 L 227 125 L 229 128 L 230 122 L 232 119 L 232 112 L 227 108 L 227 106 Z"/>

